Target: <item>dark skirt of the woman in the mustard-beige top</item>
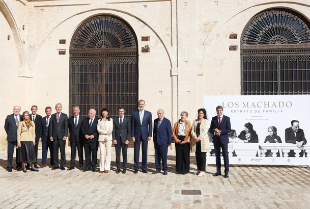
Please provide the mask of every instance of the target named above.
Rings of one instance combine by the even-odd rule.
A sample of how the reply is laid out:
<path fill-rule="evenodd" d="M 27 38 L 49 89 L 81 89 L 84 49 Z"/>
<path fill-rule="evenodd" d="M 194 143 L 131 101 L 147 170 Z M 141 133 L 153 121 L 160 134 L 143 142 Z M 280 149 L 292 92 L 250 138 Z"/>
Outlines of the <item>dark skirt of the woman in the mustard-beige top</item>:
<path fill-rule="evenodd" d="M 18 147 L 17 162 L 36 162 L 35 146 L 33 141 L 20 142 L 21 147 Z"/>

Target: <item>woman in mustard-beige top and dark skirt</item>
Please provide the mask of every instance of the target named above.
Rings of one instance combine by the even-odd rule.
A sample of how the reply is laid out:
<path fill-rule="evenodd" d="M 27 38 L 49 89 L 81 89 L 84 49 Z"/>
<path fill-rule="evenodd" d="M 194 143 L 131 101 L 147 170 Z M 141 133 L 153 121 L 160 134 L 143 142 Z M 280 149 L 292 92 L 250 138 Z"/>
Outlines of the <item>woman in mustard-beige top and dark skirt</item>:
<path fill-rule="evenodd" d="M 19 122 L 17 127 L 17 151 L 18 162 L 22 162 L 23 172 L 27 172 L 26 162 L 31 163 L 32 171 L 39 171 L 35 168 L 36 162 L 35 144 L 36 144 L 36 125 L 30 120 L 28 111 L 22 113 L 23 121 Z"/>

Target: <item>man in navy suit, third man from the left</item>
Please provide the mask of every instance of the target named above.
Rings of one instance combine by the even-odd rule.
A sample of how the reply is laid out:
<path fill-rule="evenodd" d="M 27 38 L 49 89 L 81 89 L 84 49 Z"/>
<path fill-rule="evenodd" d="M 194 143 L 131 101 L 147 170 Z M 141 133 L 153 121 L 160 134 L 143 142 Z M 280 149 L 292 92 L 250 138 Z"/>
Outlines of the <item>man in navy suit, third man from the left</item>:
<path fill-rule="evenodd" d="M 51 107 L 45 108 L 46 116 L 42 118 L 42 128 L 41 134 L 39 138 L 39 142 L 42 143 L 42 165 L 40 168 L 46 167 L 46 159 L 47 159 L 47 150 L 49 149 L 50 153 L 50 167 L 52 168 L 54 165 L 54 156 L 53 156 L 53 142 L 49 140 L 48 127 L 50 123 L 50 115 L 51 115 Z"/>

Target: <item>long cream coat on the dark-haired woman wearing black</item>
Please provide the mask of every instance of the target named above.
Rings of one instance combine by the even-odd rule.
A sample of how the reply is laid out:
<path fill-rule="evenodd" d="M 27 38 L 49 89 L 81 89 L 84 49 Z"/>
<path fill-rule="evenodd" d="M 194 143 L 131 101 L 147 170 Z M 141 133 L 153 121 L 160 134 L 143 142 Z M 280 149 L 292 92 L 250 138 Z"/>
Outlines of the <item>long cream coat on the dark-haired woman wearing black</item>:
<path fill-rule="evenodd" d="M 193 121 L 193 124 L 191 126 L 191 151 L 196 152 L 196 126 L 198 124 L 198 119 Z M 210 152 L 210 143 L 209 143 L 209 137 L 208 137 L 208 130 L 209 130 L 209 121 L 206 119 L 203 119 L 200 124 L 200 135 L 199 139 L 201 140 L 201 151 L 202 152 Z"/>

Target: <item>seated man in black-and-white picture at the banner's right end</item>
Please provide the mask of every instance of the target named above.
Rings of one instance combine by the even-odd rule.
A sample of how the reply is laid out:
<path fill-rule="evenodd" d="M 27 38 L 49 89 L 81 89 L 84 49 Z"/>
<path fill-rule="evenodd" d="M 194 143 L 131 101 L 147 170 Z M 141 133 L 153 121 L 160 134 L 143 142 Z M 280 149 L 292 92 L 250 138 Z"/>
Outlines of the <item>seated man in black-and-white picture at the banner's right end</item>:
<path fill-rule="evenodd" d="M 291 127 L 285 129 L 285 143 L 296 144 L 296 146 L 300 148 L 307 143 L 307 140 L 304 137 L 303 129 L 299 128 L 298 120 L 292 120 L 291 125 Z M 301 150 L 299 153 L 300 157 L 303 156 L 303 152 L 304 150 Z M 295 156 L 294 150 L 290 150 L 288 154 L 289 157 Z"/>

